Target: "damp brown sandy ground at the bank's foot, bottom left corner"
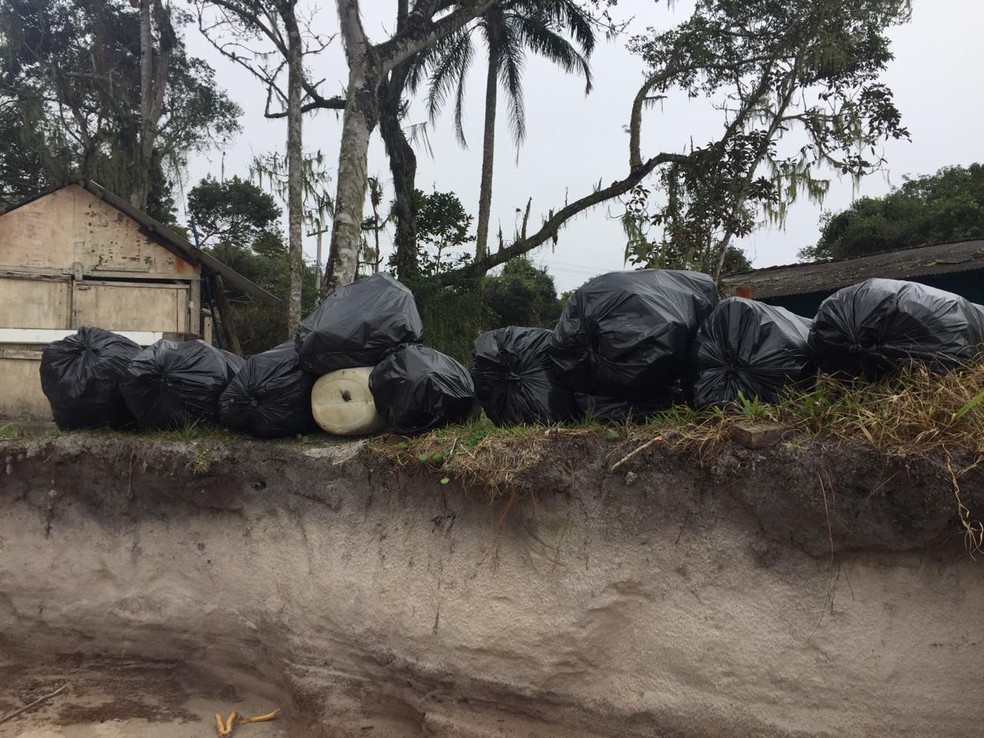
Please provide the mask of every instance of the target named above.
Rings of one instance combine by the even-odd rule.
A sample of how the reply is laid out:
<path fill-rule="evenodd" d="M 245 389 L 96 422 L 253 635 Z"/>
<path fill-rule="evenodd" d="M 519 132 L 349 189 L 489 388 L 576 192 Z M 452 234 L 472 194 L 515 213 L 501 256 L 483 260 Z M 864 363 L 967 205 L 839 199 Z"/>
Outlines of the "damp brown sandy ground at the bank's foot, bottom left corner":
<path fill-rule="evenodd" d="M 173 663 L 64 659 L 0 666 L 0 717 L 68 684 L 61 694 L 0 725 L 2 738 L 203 738 L 216 712 L 245 715 L 281 705 L 242 685 L 219 683 Z M 243 725 L 234 738 L 286 738 L 288 718 Z"/>

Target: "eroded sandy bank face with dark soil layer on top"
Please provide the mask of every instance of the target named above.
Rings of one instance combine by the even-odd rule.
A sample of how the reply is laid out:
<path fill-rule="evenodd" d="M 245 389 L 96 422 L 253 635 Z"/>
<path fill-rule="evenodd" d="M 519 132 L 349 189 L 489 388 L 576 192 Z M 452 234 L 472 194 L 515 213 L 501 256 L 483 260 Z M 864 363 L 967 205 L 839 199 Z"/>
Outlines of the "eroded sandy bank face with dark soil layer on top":
<path fill-rule="evenodd" d="M 359 442 L 4 442 L 2 655 L 239 673 L 298 735 L 978 732 L 984 564 L 937 466 L 622 457 L 559 438 L 492 502 Z"/>

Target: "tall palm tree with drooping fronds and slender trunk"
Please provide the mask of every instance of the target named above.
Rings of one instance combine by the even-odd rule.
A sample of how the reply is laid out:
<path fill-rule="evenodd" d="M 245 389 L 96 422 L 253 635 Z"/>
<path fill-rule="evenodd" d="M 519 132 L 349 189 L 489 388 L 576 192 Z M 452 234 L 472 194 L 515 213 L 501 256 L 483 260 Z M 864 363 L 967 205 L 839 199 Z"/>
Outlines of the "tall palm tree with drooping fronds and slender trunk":
<path fill-rule="evenodd" d="M 488 255 L 499 85 L 506 94 L 513 138 L 516 143 L 521 143 L 526 135 L 522 74 L 527 50 L 555 62 L 565 72 L 583 75 L 584 91 L 587 93 L 591 90 L 591 70 L 587 57 L 594 50 L 595 36 L 591 17 L 574 0 L 516 0 L 493 6 L 476 24 L 442 39 L 423 52 L 410 74 L 409 87 L 411 90 L 417 89 L 429 74 L 427 108 L 432 120 L 448 96 L 454 95 L 455 133 L 463 146 L 467 145 L 463 125 L 465 77 L 475 56 L 473 35 L 476 30 L 484 38 L 488 49 L 482 181 L 475 245 L 475 257 L 482 259 Z"/>

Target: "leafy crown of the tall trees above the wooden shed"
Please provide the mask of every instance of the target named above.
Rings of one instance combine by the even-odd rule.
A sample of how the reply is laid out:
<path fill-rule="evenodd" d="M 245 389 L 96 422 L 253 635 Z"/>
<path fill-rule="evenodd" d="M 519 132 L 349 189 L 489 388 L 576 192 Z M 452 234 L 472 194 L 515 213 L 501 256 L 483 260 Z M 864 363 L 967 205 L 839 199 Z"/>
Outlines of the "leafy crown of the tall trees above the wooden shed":
<path fill-rule="evenodd" d="M 4 155 L 4 204 L 73 174 L 129 197 L 139 160 L 138 16 L 110 0 L 0 0 L 0 148 L 20 147 Z M 163 164 L 228 139 L 242 111 L 180 39 L 171 51 L 163 111 L 152 177 L 154 215 L 168 222 Z"/>

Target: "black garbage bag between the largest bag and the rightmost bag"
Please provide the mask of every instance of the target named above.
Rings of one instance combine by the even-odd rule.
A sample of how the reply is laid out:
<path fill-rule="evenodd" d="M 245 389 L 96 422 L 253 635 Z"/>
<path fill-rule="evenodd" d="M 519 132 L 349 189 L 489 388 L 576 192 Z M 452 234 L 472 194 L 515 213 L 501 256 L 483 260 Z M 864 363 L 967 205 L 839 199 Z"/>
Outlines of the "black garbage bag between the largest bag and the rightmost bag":
<path fill-rule="evenodd" d="M 697 407 L 758 397 L 775 402 L 788 384 L 809 381 L 816 369 L 807 347 L 811 321 L 785 308 L 729 297 L 697 333 L 683 386 Z"/>

